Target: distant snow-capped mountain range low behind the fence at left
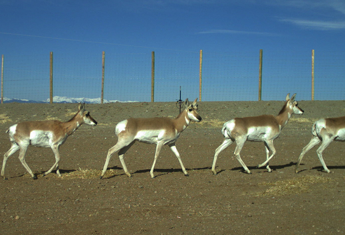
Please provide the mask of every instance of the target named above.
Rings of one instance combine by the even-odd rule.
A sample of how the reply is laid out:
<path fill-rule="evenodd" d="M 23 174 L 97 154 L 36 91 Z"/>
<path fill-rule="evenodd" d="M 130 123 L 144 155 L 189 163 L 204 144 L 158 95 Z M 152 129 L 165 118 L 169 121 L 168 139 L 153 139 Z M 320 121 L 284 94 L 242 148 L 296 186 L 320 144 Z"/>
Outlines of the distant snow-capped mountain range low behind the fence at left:
<path fill-rule="evenodd" d="M 45 101 L 31 101 L 31 100 L 19 100 L 19 99 L 8 99 L 3 98 L 4 103 L 11 103 L 11 102 L 18 102 L 18 103 L 49 103 L 50 99 Z M 69 98 L 69 97 L 61 97 L 61 96 L 54 96 L 53 97 L 54 103 L 101 103 L 101 98 L 96 99 L 89 99 L 89 98 Z M 111 102 L 138 102 L 138 101 L 107 101 L 103 100 L 104 103 L 111 103 Z"/>

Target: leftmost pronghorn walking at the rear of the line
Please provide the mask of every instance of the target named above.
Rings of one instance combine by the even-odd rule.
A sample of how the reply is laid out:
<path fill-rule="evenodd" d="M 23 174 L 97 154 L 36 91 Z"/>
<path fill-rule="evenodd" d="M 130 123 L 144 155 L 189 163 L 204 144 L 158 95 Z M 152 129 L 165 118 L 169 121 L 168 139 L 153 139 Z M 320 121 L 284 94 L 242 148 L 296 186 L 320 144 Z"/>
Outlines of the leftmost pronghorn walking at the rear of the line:
<path fill-rule="evenodd" d="M 67 137 L 73 134 L 83 123 L 91 126 L 97 125 L 95 119 L 90 116 L 90 112 L 85 110 L 85 103 L 79 103 L 78 112 L 68 122 L 60 122 L 58 120 L 28 121 L 11 126 L 6 131 L 6 133 L 9 133 L 9 139 L 12 142 L 12 146 L 3 156 L 1 169 L 1 176 L 3 179 L 7 179 L 5 176 L 7 159 L 19 149 L 19 160 L 33 179 L 37 179 L 37 176 L 25 162 L 25 154 L 29 145 L 46 148 L 50 147 L 55 155 L 55 163 L 48 171 L 44 172 L 44 175 L 49 174 L 56 167 L 56 173 L 61 176 L 58 165 L 60 161 L 60 145 L 62 145 Z"/>

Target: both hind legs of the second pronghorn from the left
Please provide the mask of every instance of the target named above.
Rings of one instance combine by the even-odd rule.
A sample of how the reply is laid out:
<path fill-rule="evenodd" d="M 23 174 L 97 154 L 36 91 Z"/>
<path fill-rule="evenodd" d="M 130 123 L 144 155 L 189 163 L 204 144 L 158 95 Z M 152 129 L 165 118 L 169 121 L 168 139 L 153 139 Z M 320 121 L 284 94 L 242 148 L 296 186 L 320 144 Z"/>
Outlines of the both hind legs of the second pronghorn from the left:
<path fill-rule="evenodd" d="M 103 176 L 106 172 L 106 168 L 108 167 L 111 156 L 119 150 L 120 151 L 119 151 L 118 155 L 119 155 L 120 162 L 122 164 L 122 168 L 124 169 L 124 171 L 128 175 L 128 177 L 131 177 L 131 174 L 128 172 L 126 164 L 123 160 L 123 155 L 133 145 L 133 143 L 134 143 L 133 140 L 130 142 L 129 141 L 121 141 L 120 137 L 118 138 L 117 143 L 108 150 L 108 154 L 106 155 L 106 160 L 105 160 L 102 174 L 100 177 L 101 179 L 103 178 Z"/>

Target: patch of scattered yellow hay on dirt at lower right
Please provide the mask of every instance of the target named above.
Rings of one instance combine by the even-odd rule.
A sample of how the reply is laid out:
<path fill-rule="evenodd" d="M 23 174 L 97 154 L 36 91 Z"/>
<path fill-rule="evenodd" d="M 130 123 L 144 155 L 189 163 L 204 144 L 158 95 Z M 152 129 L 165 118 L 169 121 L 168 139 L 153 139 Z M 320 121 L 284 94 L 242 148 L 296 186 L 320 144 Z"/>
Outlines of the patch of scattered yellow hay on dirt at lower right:
<path fill-rule="evenodd" d="M 308 192 L 311 184 L 325 183 L 331 180 L 329 177 L 306 175 L 274 183 L 260 183 L 259 185 L 269 185 L 271 187 L 258 196 L 275 197 L 305 193 Z"/>

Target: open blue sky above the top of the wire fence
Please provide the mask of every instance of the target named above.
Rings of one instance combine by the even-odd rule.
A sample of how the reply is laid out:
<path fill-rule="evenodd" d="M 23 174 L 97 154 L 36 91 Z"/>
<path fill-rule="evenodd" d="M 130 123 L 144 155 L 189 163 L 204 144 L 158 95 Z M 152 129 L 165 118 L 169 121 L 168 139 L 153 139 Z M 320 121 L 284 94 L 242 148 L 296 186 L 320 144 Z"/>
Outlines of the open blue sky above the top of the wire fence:
<path fill-rule="evenodd" d="M 6 56 L 345 51 L 344 0 L 0 0 L 0 22 Z"/>

